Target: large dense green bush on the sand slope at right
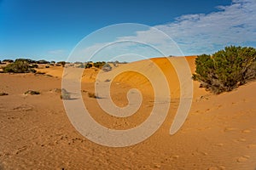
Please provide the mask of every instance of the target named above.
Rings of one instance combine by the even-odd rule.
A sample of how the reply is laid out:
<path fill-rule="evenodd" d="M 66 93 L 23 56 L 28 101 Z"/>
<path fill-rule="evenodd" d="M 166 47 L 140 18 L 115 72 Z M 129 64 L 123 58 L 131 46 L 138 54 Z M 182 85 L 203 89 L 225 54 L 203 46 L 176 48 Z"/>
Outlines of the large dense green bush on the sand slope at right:
<path fill-rule="evenodd" d="M 230 46 L 195 59 L 193 79 L 214 94 L 229 92 L 256 78 L 256 49 Z"/>

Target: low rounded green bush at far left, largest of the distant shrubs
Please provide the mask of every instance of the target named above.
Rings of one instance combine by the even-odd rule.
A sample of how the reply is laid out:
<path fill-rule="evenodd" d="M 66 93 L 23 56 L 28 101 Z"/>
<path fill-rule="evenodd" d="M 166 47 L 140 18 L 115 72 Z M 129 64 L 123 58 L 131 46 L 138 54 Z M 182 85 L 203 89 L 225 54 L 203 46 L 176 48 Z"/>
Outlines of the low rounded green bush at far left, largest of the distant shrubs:
<path fill-rule="evenodd" d="M 36 71 L 29 66 L 26 60 L 15 60 L 14 63 L 11 63 L 3 67 L 3 72 L 14 72 L 14 73 L 27 73 Z"/>

